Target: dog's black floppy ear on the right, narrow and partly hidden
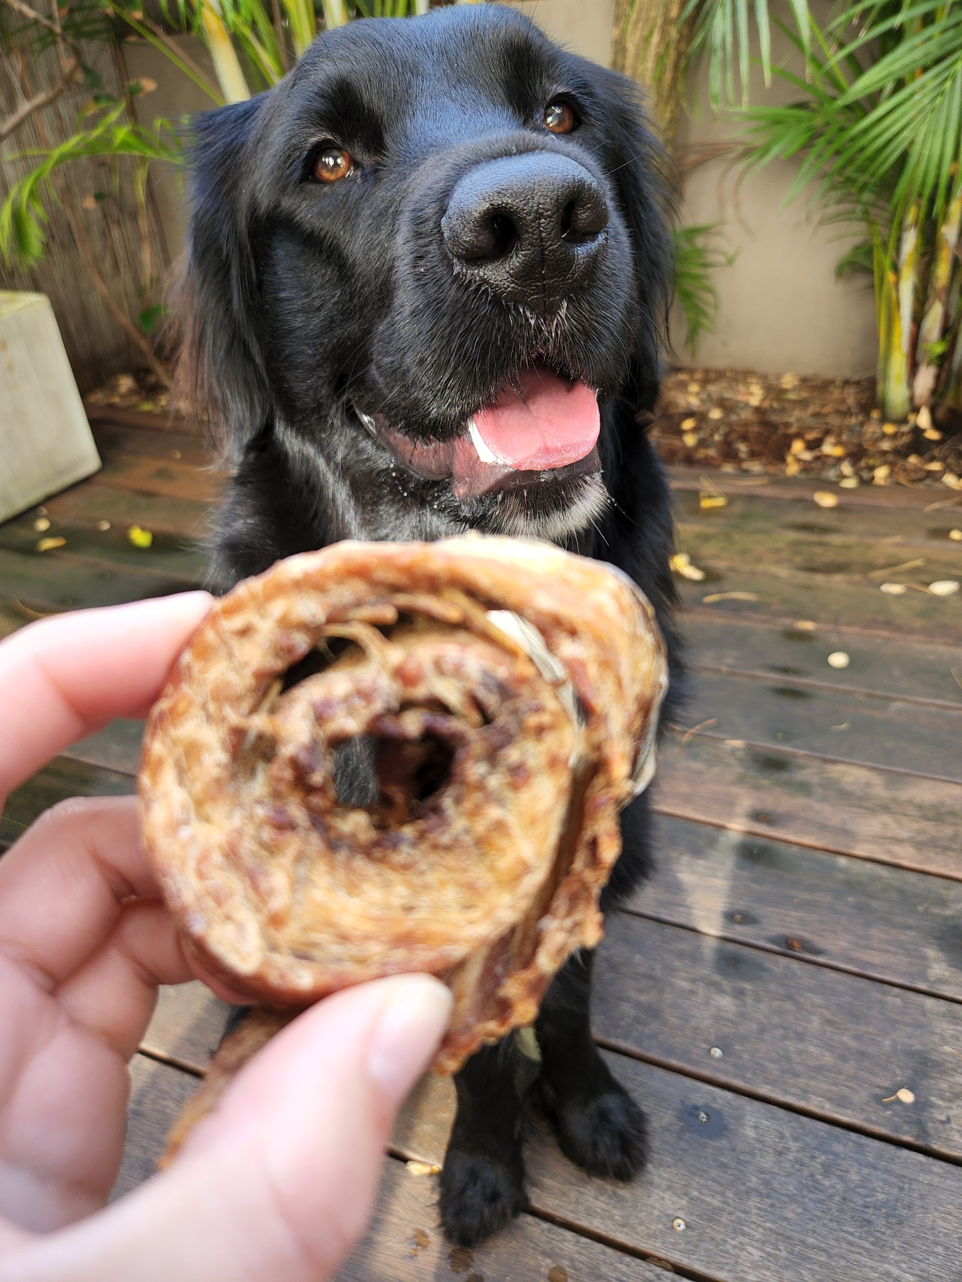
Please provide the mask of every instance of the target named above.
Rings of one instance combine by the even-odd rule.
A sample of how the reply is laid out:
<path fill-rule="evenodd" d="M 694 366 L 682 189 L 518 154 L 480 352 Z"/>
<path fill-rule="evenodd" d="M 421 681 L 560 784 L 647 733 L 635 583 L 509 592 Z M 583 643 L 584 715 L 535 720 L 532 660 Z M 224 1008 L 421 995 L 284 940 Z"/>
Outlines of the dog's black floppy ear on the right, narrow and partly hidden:
<path fill-rule="evenodd" d="M 668 159 L 648 122 L 636 82 L 618 72 L 599 69 L 599 73 L 605 77 L 604 96 L 611 112 L 608 179 L 631 233 L 641 300 L 632 399 L 637 409 L 652 409 L 658 394 L 659 353 L 667 336 L 672 281 L 673 200 Z"/>

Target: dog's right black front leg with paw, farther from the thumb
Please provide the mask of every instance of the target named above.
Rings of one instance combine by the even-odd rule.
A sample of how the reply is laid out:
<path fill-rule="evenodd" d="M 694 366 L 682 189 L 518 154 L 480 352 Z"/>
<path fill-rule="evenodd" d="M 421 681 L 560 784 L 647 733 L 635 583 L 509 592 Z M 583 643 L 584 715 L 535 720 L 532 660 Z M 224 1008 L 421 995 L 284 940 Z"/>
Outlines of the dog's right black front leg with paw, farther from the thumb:
<path fill-rule="evenodd" d="M 567 1158 L 591 1174 L 631 1179 L 645 1164 L 645 1117 L 591 1037 L 593 967 L 593 951 L 575 953 L 541 1004 L 541 1095 Z"/>

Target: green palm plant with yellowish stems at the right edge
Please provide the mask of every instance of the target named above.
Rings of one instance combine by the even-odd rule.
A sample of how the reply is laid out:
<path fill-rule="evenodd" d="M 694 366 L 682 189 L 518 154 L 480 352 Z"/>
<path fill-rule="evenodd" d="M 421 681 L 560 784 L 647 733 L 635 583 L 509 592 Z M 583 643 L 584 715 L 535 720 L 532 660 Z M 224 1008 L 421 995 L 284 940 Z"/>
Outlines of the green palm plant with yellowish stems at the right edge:
<path fill-rule="evenodd" d="M 962 4 L 847 4 L 812 36 L 779 73 L 799 100 L 744 113 L 747 160 L 800 158 L 791 195 L 865 224 L 839 268 L 871 269 L 885 415 L 962 414 Z"/>

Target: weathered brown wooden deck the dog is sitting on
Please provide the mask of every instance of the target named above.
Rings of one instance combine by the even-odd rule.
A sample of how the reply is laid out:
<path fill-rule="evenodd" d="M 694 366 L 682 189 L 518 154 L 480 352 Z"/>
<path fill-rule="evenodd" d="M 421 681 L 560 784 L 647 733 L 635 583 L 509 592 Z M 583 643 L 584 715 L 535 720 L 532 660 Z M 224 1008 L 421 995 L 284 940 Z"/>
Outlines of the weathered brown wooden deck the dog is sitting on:
<path fill-rule="evenodd" d="M 200 579 L 203 447 L 97 440 L 104 470 L 46 505 L 65 546 L 35 551 L 36 512 L 0 527 L 0 635 Z M 962 595 L 879 590 L 962 577 L 962 495 L 835 490 L 821 510 L 823 485 L 716 474 L 730 501 L 703 512 L 698 476 L 673 479 L 707 570 L 682 583 L 694 692 L 654 791 L 659 870 L 609 922 L 594 1014 L 648 1113 L 649 1168 L 591 1179 L 535 1122 L 531 1213 L 451 1250 L 435 1178 L 405 1165 L 444 1154 L 453 1092 L 428 1079 L 344 1282 L 962 1279 Z M 139 733 L 115 723 L 42 770 L 0 842 L 64 795 L 132 791 Z M 118 1194 L 151 1173 L 222 1023 L 200 986 L 163 992 Z"/>

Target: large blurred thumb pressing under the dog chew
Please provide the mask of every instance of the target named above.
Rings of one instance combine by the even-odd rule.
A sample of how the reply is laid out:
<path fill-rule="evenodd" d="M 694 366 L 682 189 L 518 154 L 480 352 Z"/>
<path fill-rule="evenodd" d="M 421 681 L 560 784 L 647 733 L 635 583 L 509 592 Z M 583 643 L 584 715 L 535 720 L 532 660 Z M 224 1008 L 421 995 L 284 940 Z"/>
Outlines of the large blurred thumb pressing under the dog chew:
<path fill-rule="evenodd" d="M 450 992 L 428 976 L 312 1006 L 239 1074 L 163 1174 L 8 1256 L 18 1282 L 322 1282 L 371 1214 L 394 1115 Z M 0 1265 L 0 1279 L 8 1277 Z"/>

